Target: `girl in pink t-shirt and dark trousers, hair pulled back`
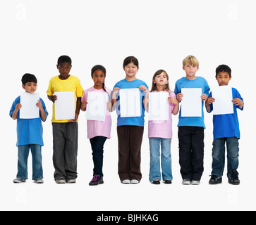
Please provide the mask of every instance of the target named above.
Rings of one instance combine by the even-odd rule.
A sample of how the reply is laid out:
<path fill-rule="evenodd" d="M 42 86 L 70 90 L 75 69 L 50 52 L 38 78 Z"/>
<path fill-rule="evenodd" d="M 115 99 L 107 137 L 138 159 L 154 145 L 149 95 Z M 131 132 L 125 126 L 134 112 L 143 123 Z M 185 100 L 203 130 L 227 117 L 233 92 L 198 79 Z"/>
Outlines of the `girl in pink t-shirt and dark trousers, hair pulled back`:
<path fill-rule="evenodd" d="M 94 163 L 93 178 L 89 185 L 103 184 L 103 147 L 106 139 L 110 139 L 111 133 L 111 90 L 106 88 L 104 81 L 106 77 L 106 69 L 102 65 L 95 65 L 92 68 L 92 79 L 95 83 L 90 89 L 83 93 L 81 110 L 85 111 L 87 104 L 87 96 L 89 92 L 100 92 L 107 94 L 108 102 L 106 103 L 106 117 L 104 121 L 87 120 L 87 138 L 90 139 L 92 146 L 92 160 Z"/>

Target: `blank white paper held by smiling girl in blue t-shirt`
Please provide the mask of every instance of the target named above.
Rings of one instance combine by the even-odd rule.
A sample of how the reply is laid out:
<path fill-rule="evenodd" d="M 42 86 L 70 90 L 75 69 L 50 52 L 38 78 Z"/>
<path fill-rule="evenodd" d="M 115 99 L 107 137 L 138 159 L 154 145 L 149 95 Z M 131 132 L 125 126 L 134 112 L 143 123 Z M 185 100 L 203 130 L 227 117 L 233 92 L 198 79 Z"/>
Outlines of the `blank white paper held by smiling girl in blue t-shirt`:
<path fill-rule="evenodd" d="M 139 89 L 121 89 L 120 94 L 120 116 L 140 117 L 141 103 Z"/>

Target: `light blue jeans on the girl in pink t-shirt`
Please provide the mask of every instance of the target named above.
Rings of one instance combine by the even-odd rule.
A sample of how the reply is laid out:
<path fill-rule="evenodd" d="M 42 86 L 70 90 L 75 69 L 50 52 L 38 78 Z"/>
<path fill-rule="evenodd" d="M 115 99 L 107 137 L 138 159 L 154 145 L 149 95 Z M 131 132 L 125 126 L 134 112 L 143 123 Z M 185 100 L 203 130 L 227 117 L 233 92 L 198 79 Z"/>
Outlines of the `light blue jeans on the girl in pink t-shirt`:
<path fill-rule="evenodd" d="M 149 138 L 150 140 L 150 182 L 172 180 L 171 172 L 171 139 Z M 161 145 L 161 172 L 160 172 L 160 145 Z"/>

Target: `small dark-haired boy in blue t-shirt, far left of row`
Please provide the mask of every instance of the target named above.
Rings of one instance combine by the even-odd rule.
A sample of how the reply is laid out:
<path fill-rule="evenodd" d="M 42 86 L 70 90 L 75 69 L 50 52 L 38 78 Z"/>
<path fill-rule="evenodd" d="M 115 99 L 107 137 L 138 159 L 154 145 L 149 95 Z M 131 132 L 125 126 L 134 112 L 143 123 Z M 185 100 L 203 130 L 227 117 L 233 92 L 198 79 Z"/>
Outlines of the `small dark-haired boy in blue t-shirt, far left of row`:
<path fill-rule="evenodd" d="M 26 73 L 23 75 L 22 87 L 27 93 L 37 90 L 37 78 Z M 17 120 L 17 144 L 18 146 L 18 173 L 13 183 L 25 182 L 28 179 L 28 155 L 32 153 L 32 180 L 37 184 L 44 183 L 42 171 L 41 146 L 44 146 L 42 133 L 42 121 L 47 120 L 48 112 L 42 98 L 37 102 L 39 117 L 35 119 L 20 119 L 20 96 L 13 101 L 9 115 Z"/>

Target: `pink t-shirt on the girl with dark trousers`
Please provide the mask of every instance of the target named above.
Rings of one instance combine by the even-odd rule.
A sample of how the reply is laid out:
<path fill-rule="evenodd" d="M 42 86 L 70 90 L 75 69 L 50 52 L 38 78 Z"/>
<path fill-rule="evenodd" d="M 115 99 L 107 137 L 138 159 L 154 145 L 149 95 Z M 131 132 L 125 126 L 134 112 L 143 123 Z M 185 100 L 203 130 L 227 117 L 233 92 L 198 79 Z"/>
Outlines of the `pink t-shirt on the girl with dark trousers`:
<path fill-rule="evenodd" d="M 111 90 L 106 88 L 106 92 L 109 95 L 109 99 L 111 98 Z M 87 89 L 83 93 L 82 102 L 87 101 L 88 92 L 98 91 L 102 93 L 106 93 L 103 89 L 95 89 L 93 86 L 90 89 Z M 87 138 L 92 139 L 95 136 L 105 136 L 110 139 L 111 133 L 111 115 L 109 113 L 109 109 L 106 104 L 106 120 L 105 121 L 97 121 L 97 120 L 87 120 Z"/>

